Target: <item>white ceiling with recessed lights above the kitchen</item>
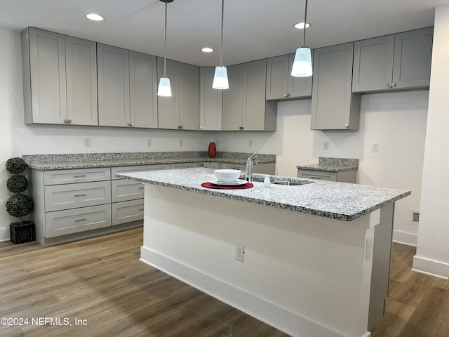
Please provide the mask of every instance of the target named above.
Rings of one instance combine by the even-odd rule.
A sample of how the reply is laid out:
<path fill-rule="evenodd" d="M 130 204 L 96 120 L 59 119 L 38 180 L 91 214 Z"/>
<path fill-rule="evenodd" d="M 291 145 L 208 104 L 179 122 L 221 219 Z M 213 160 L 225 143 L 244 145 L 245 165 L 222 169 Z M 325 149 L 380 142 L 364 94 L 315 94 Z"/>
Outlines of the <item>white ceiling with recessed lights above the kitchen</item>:
<path fill-rule="evenodd" d="M 434 25 L 434 8 L 449 0 L 309 0 L 311 48 Z M 0 0 L 0 27 L 27 26 L 163 56 L 165 4 L 159 0 Z M 220 63 L 221 0 L 168 4 L 167 58 L 193 65 Z M 105 16 L 91 22 L 86 13 Z M 293 53 L 304 0 L 225 0 L 223 64 Z M 214 53 L 200 51 L 203 46 Z"/>

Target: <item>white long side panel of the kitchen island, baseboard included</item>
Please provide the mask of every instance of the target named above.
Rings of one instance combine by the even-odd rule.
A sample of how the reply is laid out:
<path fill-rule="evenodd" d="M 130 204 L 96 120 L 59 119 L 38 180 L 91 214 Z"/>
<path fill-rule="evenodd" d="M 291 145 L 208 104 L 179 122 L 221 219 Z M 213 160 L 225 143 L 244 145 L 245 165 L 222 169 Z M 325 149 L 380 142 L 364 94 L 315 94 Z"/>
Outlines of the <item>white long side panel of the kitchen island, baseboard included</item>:
<path fill-rule="evenodd" d="M 373 225 L 145 184 L 141 260 L 291 336 L 367 337 Z"/>

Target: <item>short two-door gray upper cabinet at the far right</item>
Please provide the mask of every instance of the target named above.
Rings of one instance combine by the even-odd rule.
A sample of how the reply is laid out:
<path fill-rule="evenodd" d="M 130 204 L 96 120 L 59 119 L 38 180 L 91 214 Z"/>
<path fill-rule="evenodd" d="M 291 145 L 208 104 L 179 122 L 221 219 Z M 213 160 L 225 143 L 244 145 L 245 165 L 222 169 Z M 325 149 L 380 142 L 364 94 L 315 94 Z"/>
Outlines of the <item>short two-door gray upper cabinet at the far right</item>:
<path fill-rule="evenodd" d="M 428 88 L 433 28 L 356 41 L 354 92 Z"/>

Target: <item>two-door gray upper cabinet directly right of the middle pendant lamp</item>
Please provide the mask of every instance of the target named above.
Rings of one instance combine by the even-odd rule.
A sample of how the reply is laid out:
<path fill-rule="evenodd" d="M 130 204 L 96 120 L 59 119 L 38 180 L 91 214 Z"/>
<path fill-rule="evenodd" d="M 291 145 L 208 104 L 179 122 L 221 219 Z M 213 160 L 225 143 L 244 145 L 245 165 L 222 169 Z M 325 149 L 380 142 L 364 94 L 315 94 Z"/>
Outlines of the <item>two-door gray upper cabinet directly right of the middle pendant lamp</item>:
<path fill-rule="evenodd" d="M 228 67 L 229 89 L 223 91 L 222 129 L 276 131 L 276 102 L 265 100 L 267 60 Z"/>

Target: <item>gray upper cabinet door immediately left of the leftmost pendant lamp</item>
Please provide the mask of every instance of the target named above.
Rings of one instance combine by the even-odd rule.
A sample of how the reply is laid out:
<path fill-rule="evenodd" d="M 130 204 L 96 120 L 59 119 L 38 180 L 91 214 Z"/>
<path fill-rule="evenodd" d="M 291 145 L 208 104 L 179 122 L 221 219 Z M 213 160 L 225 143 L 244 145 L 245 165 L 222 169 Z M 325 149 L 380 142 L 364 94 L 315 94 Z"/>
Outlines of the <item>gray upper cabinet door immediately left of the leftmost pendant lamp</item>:
<path fill-rule="evenodd" d="M 129 51 L 130 124 L 157 128 L 156 56 Z"/>

